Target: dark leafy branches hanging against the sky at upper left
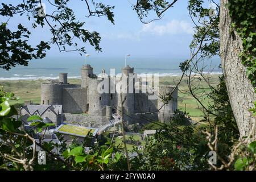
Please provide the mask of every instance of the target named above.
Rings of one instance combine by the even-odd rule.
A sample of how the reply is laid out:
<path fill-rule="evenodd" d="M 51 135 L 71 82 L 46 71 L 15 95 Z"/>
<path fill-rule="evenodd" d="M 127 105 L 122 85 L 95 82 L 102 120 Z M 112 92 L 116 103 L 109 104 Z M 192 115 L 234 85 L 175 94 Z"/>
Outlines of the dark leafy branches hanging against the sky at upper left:
<path fill-rule="evenodd" d="M 86 53 L 86 49 L 77 42 L 82 42 L 82 45 L 89 43 L 96 51 L 101 51 L 99 44 L 101 37 L 98 32 L 86 30 L 85 22 L 77 20 L 73 10 L 68 7 L 68 2 L 69 0 L 48 1 L 47 6 L 53 9 L 51 13 L 44 12 L 40 0 L 23 1 L 18 5 L 1 3 L 0 15 L 8 20 L 0 24 L 0 68 L 9 70 L 15 65 L 27 66 L 31 59 L 42 59 L 46 56 L 46 51 L 51 49 L 51 44 L 57 45 L 60 52 L 77 51 L 80 55 Z M 94 1 L 89 5 L 87 1 L 85 2 L 89 16 L 106 16 L 114 23 L 112 12 L 114 6 L 106 6 Z M 95 11 L 91 11 L 90 6 L 93 6 Z M 42 40 L 37 46 L 32 47 L 28 44 L 31 34 L 28 28 L 22 24 L 18 24 L 17 31 L 8 28 L 9 19 L 15 15 L 26 16 L 28 22 L 32 21 L 32 28 L 49 27 L 51 40 Z"/>

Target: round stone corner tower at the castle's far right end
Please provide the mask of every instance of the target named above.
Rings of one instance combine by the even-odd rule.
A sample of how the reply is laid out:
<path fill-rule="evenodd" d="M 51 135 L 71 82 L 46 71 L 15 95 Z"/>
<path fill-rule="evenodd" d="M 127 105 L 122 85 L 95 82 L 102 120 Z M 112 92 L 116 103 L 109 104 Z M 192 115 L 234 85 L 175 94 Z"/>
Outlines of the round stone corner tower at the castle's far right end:
<path fill-rule="evenodd" d="M 158 118 L 160 122 L 168 122 L 170 121 L 171 117 L 174 115 L 174 111 L 177 110 L 177 88 L 174 90 L 175 86 L 159 86 L 158 94 Z M 168 93 L 172 93 L 172 99 L 168 101 L 167 104 L 164 105 L 163 97 L 167 97 Z M 160 98 L 162 97 L 162 98 Z"/>

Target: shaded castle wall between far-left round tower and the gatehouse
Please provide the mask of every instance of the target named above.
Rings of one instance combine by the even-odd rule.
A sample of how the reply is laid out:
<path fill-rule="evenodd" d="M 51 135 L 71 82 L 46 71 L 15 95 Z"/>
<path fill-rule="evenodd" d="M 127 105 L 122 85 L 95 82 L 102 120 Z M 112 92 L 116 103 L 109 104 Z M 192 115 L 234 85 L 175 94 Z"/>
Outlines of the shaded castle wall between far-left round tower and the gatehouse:
<path fill-rule="evenodd" d="M 86 88 L 63 88 L 64 113 L 85 113 L 86 98 Z"/>

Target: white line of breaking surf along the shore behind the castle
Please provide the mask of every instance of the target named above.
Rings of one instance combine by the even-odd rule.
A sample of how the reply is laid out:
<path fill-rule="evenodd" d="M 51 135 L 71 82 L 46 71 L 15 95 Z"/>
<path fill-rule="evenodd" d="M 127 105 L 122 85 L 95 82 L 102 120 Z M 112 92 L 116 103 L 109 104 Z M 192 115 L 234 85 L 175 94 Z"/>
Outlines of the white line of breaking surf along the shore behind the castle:
<path fill-rule="evenodd" d="M 157 73 L 138 73 L 138 77 L 142 77 L 145 74 L 157 74 Z M 205 75 L 221 75 L 222 72 L 212 72 L 212 73 L 204 73 Z M 117 75 L 118 76 L 118 75 Z M 181 76 L 181 73 L 159 73 L 159 77 L 174 77 L 174 76 Z M 69 79 L 81 79 L 81 76 L 70 76 Z M 0 77 L 0 81 L 16 81 L 16 80 L 57 80 L 59 77 L 36 77 L 34 75 L 27 75 L 24 77 Z"/>

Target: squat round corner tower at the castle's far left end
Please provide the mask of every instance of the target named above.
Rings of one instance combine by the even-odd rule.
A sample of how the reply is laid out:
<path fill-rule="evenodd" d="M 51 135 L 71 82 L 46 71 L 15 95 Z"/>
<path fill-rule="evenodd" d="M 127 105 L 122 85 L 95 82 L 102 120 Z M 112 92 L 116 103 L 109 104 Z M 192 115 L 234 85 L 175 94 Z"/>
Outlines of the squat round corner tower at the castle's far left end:
<path fill-rule="evenodd" d="M 42 105 L 62 105 L 62 84 L 51 81 L 41 84 Z"/>

